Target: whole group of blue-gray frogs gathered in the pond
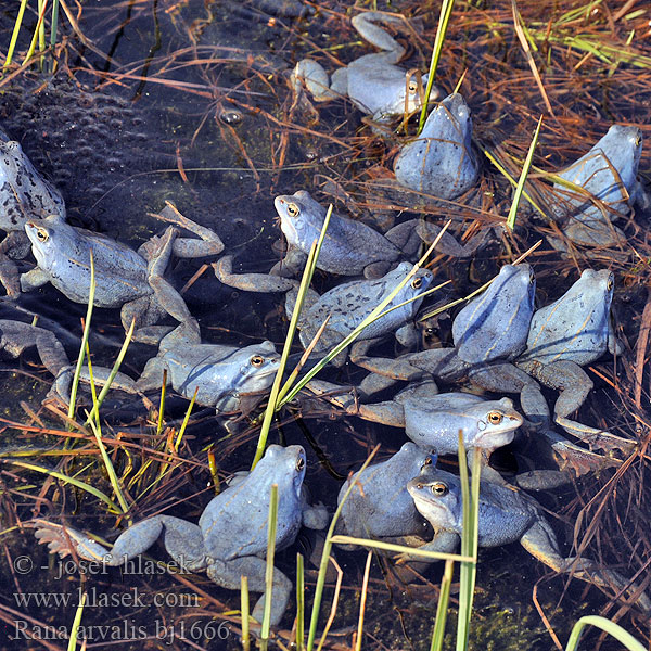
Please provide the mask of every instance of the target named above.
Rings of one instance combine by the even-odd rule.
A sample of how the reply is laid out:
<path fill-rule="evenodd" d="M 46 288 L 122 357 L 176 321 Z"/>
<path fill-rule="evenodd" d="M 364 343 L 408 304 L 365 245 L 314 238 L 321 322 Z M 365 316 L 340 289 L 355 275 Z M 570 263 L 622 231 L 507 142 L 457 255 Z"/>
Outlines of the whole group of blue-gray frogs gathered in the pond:
<path fill-rule="evenodd" d="M 379 26 L 381 23 L 393 25 L 400 20 L 379 12 L 353 20 L 357 31 L 382 52 L 353 61 L 337 71 L 332 84 L 317 62 L 299 62 L 292 77 L 299 99 L 305 91 L 316 100 L 348 97 L 378 122 L 418 108 L 423 101 L 419 80 L 406 78 L 405 71 L 396 65 L 404 49 Z M 437 93 L 434 89 L 430 99 Z M 445 98 L 430 114 L 423 132 L 398 154 L 397 183 L 434 197 L 460 196 L 481 174 L 471 135 L 470 111 L 463 98 L 459 93 Z M 9 234 L 0 246 L 0 279 L 8 295 L 15 297 L 50 282 L 69 299 L 85 303 L 92 266 L 94 304 L 120 307 L 125 329 L 135 322 L 135 337 L 158 346 L 138 380 L 117 375 L 115 382 L 120 388 L 142 393 L 159 387 L 163 370 L 167 370 L 167 381 L 175 391 L 188 398 L 196 391 L 196 403 L 214 407 L 218 414 L 253 409 L 279 368 L 273 344 L 266 341 L 239 348 L 202 343 L 196 320 L 165 278 L 173 255 L 218 255 L 224 248 L 219 238 L 171 205 L 158 215 L 170 226 L 138 252 L 73 227 L 65 221 L 65 205 L 58 191 L 39 176 L 17 142 L 2 140 L 0 227 Z M 611 217 L 626 213 L 629 203 L 641 196 L 637 190 L 640 152 L 639 129 L 614 125 L 590 152 L 559 174 L 557 186 L 564 200 L 552 210 L 552 217 L 561 218 L 562 214 L 569 239 L 604 244 L 605 239 L 622 235 Z M 305 190 L 278 196 L 275 206 L 288 241 L 285 258 L 270 273 L 234 273 L 231 256 L 216 261 L 214 268 L 219 281 L 230 286 L 284 293 L 290 316 L 299 285 L 297 272 L 321 230 L 327 209 Z M 317 267 L 353 280 L 321 296 L 310 290 L 299 316 L 302 344 L 311 346 L 311 355 L 321 355 L 346 337 L 403 282 L 388 311 L 361 332 L 349 352 L 333 360 L 341 365 L 349 355 L 352 362 L 369 371 L 355 392 L 322 380 L 309 385 L 312 394 L 350 416 L 401 427 L 411 439 L 388 459 L 369 465 L 344 484 L 340 502 L 353 488 L 343 505 L 340 531 L 427 550 L 454 550 L 462 523 L 460 484 L 457 476 L 436 468 L 436 456 L 457 454 L 461 432 L 471 454 L 482 455 L 480 545 L 520 540 L 554 570 L 628 591 L 638 608 L 650 612 L 651 601 L 643 591 L 616 572 L 585 558 L 565 558 L 540 506 L 522 489 L 549 487 L 570 471 L 583 474 L 617 463 L 592 448 L 625 454 L 633 448 L 628 439 L 570 418 L 592 387 L 582 367 L 607 352 L 617 352 L 610 318 L 613 275 L 587 269 L 558 301 L 536 310 L 533 269 L 527 264 L 506 265 L 488 289 L 456 316 L 452 348 L 413 352 L 413 321 L 434 277 L 426 269 L 413 268 L 409 260 L 430 232 L 412 220 L 383 234 L 333 213 Z M 20 275 L 14 260 L 27 255 L 26 244 L 37 264 Z M 179 324 L 159 326 L 165 314 Z M 14 356 L 27 346 L 37 346 L 43 363 L 55 375 L 58 394 L 65 397 L 69 393 L 72 369 L 63 346 L 49 330 L 9 320 L 0 322 L 0 330 L 2 348 Z M 395 335 L 408 352 L 397 359 L 369 355 L 375 342 L 386 335 Z M 106 374 L 106 369 L 93 369 L 97 381 Z M 437 382 L 458 381 L 483 391 L 519 395 L 524 416 L 508 397 L 485 399 L 464 392 L 438 392 Z M 396 382 L 408 384 L 391 400 L 371 400 Z M 540 385 L 560 392 L 552 414 Z M 553 430 L 554 425 L 590 449 L 569 441 Z M 488 461 L 490 452 L 512 442 L 519 429 L 547 442 L 562 468 L 556 473 L 518 475 L 516 488 Z M 239 589 L 240 576 L 246 575 L 252 590 L 264 591 L 270 486 L 278 485 L 278 549 L 294 541 L 302 524 L 317 529 L 328 525 L 327 509 L 307 503 L 305 472 L 306 456 L 301 446 L 271 445 L 251 473 L 237 476 L 210 500 L 199 525 L 156 515 L 125 531 L 111 552 L 86 534 L 47 521 L 36 523 L 36 535 L 52 551 L 68 553 L 72 544 L 79 558 L 110 565 L 142 553 L 162 536 L 180 566 L 205 571 L 215 583 L 231 589 Z M 409 554 L 405 559 L 409 561 Z M 275 571 L 272 624 L 282 618 L 291 585 L 282 572 Z M 254 608 L 257 621 L 265 602 L 263 596 Z"/>

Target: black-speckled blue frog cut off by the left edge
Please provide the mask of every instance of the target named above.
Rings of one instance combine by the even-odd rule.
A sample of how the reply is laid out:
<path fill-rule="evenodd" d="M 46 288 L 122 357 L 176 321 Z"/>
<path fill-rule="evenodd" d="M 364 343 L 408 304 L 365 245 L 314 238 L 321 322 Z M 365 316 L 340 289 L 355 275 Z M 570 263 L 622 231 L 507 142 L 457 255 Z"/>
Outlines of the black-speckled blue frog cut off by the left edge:
<path fill-rule="evenodd" d="M 59 215 L 65 203 L 59 191 L 36 170 L 18 142 L 0 142 L 0 228 L 23 231 L 33 218 Z"/>

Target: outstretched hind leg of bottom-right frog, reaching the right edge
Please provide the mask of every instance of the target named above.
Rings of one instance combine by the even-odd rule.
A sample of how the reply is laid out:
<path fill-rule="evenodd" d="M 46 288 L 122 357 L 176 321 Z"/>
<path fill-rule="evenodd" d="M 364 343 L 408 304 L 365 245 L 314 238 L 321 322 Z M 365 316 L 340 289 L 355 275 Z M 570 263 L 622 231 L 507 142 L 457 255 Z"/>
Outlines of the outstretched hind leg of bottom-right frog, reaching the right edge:
<path fill-rule="evenodd" d="M 634 602 L 644 612 L 651 612 L 651 600 L 642 588 L 627 580 L 612 570 L 600 567 L 593 561 L 582 558 L 564 558 L 559 551 L 556 535 L 550 524 L 540 519 L 520 540 L 522 546 L 536 559 L 559 573 L 572 576 L 602 588 L 615 589 L 634 596 Z"/>

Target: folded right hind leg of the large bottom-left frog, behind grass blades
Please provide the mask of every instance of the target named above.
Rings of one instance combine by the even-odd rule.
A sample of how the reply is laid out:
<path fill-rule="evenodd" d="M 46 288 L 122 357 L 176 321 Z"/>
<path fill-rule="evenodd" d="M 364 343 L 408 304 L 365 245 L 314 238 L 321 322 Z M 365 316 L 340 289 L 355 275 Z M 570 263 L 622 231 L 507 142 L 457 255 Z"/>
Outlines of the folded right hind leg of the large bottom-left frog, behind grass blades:
<path fill-rule="evenodd" d="M 258 557 L 242 557 L 227 562 L 208 559 L 206 573 L 218 586 L 230 590 L 239 590 L 241 577 L 248 578 L 248 589 L 253 592 L 263 592 L 253 609 L 253 618 L 263 621 L 265 613 L 265 574 L 267 562 Z M 282 620 L 290 596 L 292 595 L 292 582 L 278 569 L 273 569 L 273 583 L 271 585 L 271 625 L 277 626 Z"/>

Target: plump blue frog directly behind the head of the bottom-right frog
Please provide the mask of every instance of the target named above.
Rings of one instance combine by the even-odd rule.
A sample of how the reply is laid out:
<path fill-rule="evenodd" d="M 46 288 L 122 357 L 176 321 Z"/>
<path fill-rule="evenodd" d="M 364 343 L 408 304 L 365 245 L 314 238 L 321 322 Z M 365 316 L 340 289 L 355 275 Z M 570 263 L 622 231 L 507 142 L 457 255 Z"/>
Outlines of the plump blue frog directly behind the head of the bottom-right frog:
<path fill-rule="evenodd" d="M 341 503 L 354 484 L 341 512 L 342 532 L 356 538 L 416 546 L 409 538 L 425 541 L 429 526 L 407 493 L 407 482 L 431 463 L 431 452 L 406 443 L 386 461 L 355 473 L 342 486 Z"/>

